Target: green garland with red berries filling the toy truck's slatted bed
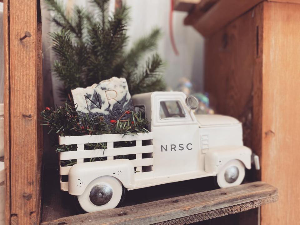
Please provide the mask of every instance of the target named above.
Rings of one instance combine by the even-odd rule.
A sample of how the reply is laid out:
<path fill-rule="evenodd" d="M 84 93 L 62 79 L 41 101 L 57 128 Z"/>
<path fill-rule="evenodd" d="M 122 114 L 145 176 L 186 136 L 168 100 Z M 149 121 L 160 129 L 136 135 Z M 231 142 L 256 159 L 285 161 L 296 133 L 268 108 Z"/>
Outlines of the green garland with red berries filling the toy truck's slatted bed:
<path fill-rule="evenodd" d="M 123 115 L 131 114 L 126 120 L 122 120 Z M 59 136 L 81 136 L 81 135 L 97 135 L 97 134 L 123 134 L 137 135 L 137 133 L 148 133 L 148 120 L 142 117 L 142 113 L 126 111 L 113 124 L 107 124 L 102 116 L 91 119 L 88 114 L 85 117 L 79 117 L 80 113 L 76 112 L 76 108 L 69 103 L 57 107 L 57 110 L 46 108 L 41 112 L 43 118 L 42 125 L 49 126 L 49 133 L 53 132 Z M 48 133 L 48 134 L 49 134 Z M 130 142 L 117 143 L 115 148 L 130 145 Z M 124 146 L 125 145 L 125 146 Z M 89 149 L 106 149 L 107 143 L 87 143 L 84 144 L 84 150 Z M 77 145 L 57 145 L 57 152 L 76 151 Z M 85 159 L 85 162 L 101 161 L 104 158 Z M 71 166 L 76 160 L 62 160 L 63 166 Z"/>

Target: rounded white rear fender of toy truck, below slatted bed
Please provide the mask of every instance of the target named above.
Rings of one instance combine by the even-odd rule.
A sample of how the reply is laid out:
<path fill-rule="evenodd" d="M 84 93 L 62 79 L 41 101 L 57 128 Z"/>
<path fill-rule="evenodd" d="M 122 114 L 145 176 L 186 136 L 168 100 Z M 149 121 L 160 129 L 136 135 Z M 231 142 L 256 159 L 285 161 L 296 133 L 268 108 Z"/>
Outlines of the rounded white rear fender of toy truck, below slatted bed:
<path fill-rule="evenodd" d="M 115 177 L 124 187 L 132 188 L 134 184 L 133 163 L 128 159 L 115 159 L 75 164 L 69 171 L 69 194 L 82 195 L 89 183 L 102 176 Z"/>

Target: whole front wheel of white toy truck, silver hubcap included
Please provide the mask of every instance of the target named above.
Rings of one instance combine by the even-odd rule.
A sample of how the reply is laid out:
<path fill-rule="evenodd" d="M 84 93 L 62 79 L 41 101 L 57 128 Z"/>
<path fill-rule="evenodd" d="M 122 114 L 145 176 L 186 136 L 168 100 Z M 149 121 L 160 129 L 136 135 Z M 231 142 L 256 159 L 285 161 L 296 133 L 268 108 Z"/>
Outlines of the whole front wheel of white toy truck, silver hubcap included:
<path fill-rule="evenodd" d="M 217 174 L 219 187 L 232 187 L 242 183 L 245 178 L 245 166 L 239 160 L 231 160 Z"/>

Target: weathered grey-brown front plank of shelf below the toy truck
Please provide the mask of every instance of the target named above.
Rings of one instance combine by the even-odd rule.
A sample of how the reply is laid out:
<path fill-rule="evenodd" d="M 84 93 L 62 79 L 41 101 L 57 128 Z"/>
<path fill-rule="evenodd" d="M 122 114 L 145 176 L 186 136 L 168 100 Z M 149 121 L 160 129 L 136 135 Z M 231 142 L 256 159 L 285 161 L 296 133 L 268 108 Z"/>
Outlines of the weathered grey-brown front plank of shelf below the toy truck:
<path fill-rule="evenodd" d="M 254 182 L 102 212 L 65 217 L 42 224 L 184 224 L 275 202 L 277 194 L 277 188 L 267 183 Z"/>

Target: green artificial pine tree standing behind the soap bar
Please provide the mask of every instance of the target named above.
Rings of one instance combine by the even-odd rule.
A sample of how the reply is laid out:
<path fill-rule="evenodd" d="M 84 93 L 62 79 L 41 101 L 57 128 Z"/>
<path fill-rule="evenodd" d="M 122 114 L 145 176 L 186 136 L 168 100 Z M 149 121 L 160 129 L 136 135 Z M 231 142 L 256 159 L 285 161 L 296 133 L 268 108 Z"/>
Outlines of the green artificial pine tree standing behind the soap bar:
<path fill-rule="evenodd" d="M 45 0 L 54 12 L 51 21 L 60 29 L 50 33 L 58 60 L 53 70 L 64 83 L 64 96 L 72 89 L 87 87 L 112 77 L 126 78 L 131 94 L 162 91 L 163 61 L 157 53 L 141 66 L 146 53 L 153 52 L 160 36 L 158 28 L 125 51 L 128 36 L 128 7 L 108 16 L 109 0 L 92 0 L 94 13 L 75 6 L 72 16 L 57 0 Z"/>

